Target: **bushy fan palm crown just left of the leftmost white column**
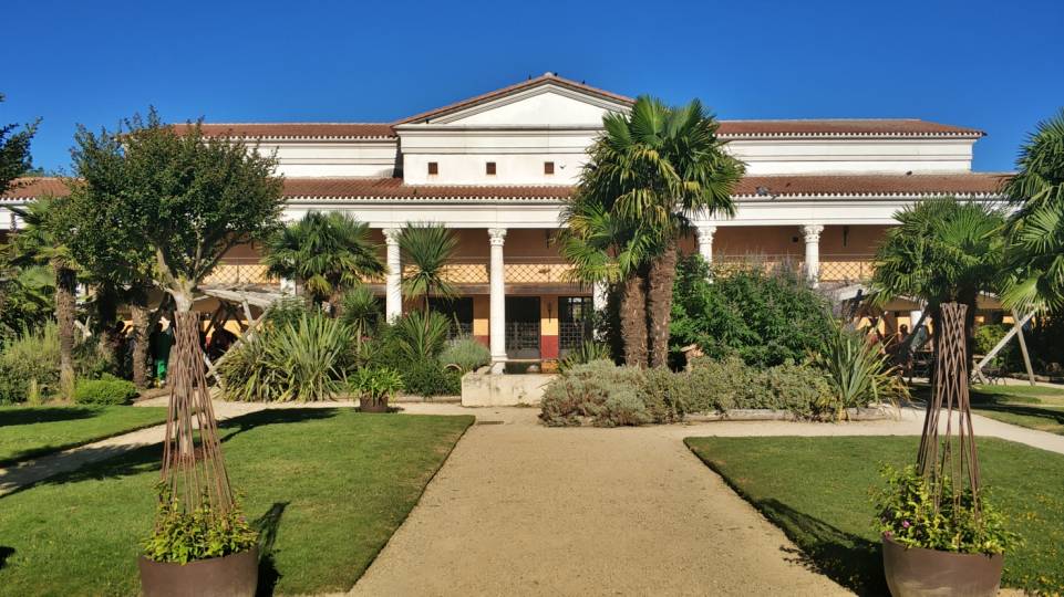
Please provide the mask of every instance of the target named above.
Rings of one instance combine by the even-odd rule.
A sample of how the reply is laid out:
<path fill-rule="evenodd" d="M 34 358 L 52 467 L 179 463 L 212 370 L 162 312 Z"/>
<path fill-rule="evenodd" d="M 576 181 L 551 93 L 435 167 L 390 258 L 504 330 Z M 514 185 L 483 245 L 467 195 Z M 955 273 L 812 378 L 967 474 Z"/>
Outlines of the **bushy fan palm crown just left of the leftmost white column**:
<path fill-rule="evenodd" d="M 267 241 L 262 263 L 271 275 L 295 280 L 314 304 L 329 301 L 334 313 L 344 290 L 384 273 L 369 227 L 338 211 L 311 211 L 285 227 Z"/>

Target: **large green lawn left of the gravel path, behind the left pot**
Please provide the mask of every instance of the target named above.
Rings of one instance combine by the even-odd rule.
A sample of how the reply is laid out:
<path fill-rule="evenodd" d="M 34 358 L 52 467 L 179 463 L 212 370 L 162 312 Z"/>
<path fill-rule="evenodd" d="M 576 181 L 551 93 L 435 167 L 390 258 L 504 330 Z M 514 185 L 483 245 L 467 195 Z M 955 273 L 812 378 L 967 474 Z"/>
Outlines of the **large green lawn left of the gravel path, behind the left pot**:
<path fill-rule="evenodd" d="M 261 411 L 223 426 L 234 488 L 267 538 L 260 583 L 348 590 L 473 417 Z M 136 595 L 159 447 L 0 498 L 0 595 Z"/>

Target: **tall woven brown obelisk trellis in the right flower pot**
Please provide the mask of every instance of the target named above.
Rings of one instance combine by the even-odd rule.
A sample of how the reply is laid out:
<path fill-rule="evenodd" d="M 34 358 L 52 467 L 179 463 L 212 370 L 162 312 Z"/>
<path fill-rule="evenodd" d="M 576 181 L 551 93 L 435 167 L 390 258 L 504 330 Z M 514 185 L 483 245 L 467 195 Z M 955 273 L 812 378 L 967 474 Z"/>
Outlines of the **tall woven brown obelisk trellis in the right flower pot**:
<path fill-rule="evenodd" d="M 928 401 L 917 465 L 934 488 L 937 505 L 942 503 L 942 481 L 950 479 L 954 505 L 964 492 L 964 478 L 972 492 L 972 509 L 979 515 L 979 458 L 972 431 L 968 396 L 968 344 L 964 333 L 967 305 L 943 303 L 938 324 L 938 362 L 934 388 Z M 954 416 L 955 412 L 955 416 Z M 944 438 L 939 437 L 940 417 L 946 415 Z M 955 420 L 954 420 L 955 419 Z M 955 426 L 955 438 L 954 438 Z"/>

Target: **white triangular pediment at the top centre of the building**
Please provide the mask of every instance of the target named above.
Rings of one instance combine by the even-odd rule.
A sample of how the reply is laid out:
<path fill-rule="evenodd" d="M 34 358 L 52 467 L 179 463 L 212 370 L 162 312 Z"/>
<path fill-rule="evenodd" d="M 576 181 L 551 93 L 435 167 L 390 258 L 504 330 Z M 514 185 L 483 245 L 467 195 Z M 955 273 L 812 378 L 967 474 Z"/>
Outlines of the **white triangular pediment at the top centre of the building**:
<path fill-rule="evenodd" d="M 455 126 L 600 126 L 631 100 L 552 74 L 413 116 L 400 124 Z"/>

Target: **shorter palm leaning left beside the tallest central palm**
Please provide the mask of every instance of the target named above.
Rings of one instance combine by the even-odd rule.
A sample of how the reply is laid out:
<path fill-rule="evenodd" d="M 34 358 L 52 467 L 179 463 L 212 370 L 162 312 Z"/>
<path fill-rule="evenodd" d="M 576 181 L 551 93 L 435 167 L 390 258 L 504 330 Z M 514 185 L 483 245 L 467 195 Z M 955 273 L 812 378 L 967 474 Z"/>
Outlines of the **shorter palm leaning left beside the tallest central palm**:
<path fill-rule="evenodd" d="M 558 252 L 572 264 L 568 276 L 586 285 L 607 283 L 620 294 L 620 349 L 624 363 L 647 364 L 645 271 L 652 240 L 606 206 L 577 193 L 562 207 Z"/>

